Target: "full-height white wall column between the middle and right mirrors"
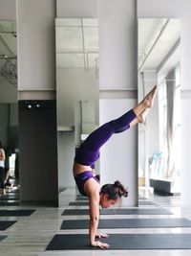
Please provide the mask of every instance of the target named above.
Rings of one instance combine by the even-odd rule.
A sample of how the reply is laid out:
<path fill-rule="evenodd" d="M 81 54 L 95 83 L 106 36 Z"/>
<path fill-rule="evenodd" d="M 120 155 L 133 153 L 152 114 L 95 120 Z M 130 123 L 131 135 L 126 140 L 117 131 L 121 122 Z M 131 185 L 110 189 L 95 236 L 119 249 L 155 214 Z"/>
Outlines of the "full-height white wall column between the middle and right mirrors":
<path fill-rule="evenodd" d="M 135 4 L 134 0 L 100 0 L 98 4 L 99 90 L 116 97 L 100 100 L 100 124 L 117 118 L 137 103 L 137 99 L 120 99 L 128 95 L 128 90 L 137 89 Z M 137 128 L 115 135 L 101 151 L 101 183 L 118 179 L 128 187 L 129 198 L 123 200 L 124 205 L 138 202 L 137 164 Z"/>

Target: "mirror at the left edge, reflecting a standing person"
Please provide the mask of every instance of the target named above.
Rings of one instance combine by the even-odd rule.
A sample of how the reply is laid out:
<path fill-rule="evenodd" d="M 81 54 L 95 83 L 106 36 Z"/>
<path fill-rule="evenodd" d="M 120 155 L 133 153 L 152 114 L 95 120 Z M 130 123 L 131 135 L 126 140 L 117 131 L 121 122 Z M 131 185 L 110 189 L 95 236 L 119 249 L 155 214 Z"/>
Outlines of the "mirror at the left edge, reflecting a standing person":
<path fill-rule="evenodd" d="M 0 21 L 0 140 L 6 152 L 0 205 L 18 205 L 18 103 L 16 22 Z M 2 192 L 2 191 L 1 191 Z"/>

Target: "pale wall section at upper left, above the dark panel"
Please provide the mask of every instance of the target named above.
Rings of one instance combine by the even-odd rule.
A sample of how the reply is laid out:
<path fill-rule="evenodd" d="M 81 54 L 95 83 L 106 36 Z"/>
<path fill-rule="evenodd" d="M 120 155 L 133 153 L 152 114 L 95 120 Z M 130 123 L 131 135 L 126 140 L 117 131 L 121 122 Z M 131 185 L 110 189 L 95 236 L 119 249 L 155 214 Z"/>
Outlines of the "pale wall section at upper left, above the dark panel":
<path fill-rule="evenodd" d="M 17 0 L 16 3 L 18 89 L 54 90 L 55 1 Z"/>

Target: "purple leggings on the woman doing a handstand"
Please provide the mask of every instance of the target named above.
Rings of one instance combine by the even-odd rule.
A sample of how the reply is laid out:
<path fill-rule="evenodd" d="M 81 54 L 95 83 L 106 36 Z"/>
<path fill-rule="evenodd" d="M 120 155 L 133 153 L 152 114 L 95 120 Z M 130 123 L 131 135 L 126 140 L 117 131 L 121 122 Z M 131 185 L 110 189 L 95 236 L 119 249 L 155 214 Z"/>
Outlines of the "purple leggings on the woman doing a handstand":
<path fill-rule="evenodd" d="M 78 164 L 88 165 L 94 168 L 95 162 L 99 157 L 99 149 L 101 146 L 103 146 L 114 133 L 122 132 L 130 128 L 130 123 L 136 117 L 134 110 L 131 109 L 121 117 L 97 128 L 82 143 L 75 154 L 74 161 Z"/>

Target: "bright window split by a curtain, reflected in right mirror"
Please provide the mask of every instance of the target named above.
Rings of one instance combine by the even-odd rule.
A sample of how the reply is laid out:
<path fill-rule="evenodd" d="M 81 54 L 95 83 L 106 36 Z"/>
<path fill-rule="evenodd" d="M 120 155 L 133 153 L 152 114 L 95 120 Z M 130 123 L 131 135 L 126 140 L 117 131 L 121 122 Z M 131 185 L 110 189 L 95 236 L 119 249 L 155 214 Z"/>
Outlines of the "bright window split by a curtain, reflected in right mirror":
<path fill-rule="evenodd" d="M 168 130 L 167 130 L 167 81 L 162 81 L 159 85 L 159 150 L 163 159 L 160 173 L 161 177 L 177 178 L 180 176 L 180 65 L 175 69 L 175 91 L 174 91 L 174 111 L 172 116 L 172 138 L 171 157 L 173 161 L 173 172 L 167 172 L 168 157 Z"/>

